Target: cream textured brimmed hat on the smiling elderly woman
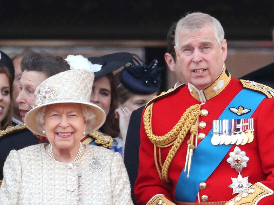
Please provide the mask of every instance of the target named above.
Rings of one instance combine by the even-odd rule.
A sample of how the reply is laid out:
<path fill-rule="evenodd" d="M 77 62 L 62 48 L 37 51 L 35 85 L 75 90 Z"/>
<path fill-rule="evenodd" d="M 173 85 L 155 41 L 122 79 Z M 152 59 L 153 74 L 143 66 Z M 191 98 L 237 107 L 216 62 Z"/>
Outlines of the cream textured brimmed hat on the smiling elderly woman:
<path fill-rule="evenodd" d="M 40 136 L 43 125 L 35 116 L 41 108 L 57 103 L 79 103 L 91 109 L 95 117 L 87 121 L 86 133 L 99 129 L 105 122 L 106 114 L 102 108 L 90 103 L 94 74 L 88 70 L 69 70 L 53 75 L 43 81 L 35 90 L 33 108 L 25 116 L 25 124 L 31 132 Z"/>

